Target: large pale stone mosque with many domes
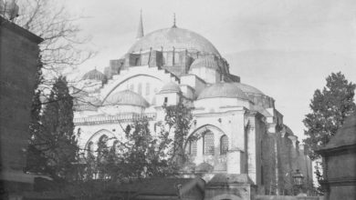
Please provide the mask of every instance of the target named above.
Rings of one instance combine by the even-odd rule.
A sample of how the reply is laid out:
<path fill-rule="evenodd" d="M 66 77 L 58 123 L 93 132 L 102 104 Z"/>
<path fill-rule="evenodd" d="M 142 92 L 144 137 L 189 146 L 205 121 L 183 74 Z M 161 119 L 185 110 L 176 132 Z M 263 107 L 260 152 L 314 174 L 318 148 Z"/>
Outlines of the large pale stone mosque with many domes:
<path fill-rule="evenodd" d="M 200 137 L 187 145 L 194 163 L 189 173 L 201 175 L 207 185 L 224 179 L 220 186 L 225 189 L 216 190 L 215 185 L 215 192 L 205 192 L 205 199 L 287 194 L 291 172 L 297 169 L 305 182 L 311 180 L 311 162 L 298 137 L 283 123 L 275 100 L 232 75 L 212 43 L 178 27 L 175 20 L 169 28 L 144 35 L 141 17 L 128 52 L 110 60 L 103 73 L 94 69 L 83 75 L 77 87 L 89 102 L 76 102 L 74 115 L 81 130 L 79 145 L 87 149 L 103 136 L 123 139 L 119 124 L 130 125 L 143 116 L 152 127 L 162 122 L 163 104 L 184 99 L 193 105 L 190 135 Z M 239 189 L 229 192 L 226 188 L 233 186 L 226 184 Z"/>

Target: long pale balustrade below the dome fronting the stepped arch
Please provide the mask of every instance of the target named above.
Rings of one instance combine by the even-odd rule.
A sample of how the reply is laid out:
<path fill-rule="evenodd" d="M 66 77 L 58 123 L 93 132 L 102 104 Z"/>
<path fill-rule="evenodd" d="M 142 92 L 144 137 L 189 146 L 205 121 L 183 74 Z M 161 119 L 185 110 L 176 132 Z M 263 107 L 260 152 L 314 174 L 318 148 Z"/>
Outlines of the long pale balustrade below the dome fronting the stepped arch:
<path fill-rule="evenodd" d="M 140 120 L 142 118 L 147 118 L 148 120 L 154 120 L 156 118 L 155 113 L 148 114 L 135 114 L 127 113 L 120 115 L 108 115 L 108 116 L 89 116 L 74 118 L 74 125 L 103 125 L 103 124 L 114 124 L 114 123 L 124 123 L 133 122 Z"/>

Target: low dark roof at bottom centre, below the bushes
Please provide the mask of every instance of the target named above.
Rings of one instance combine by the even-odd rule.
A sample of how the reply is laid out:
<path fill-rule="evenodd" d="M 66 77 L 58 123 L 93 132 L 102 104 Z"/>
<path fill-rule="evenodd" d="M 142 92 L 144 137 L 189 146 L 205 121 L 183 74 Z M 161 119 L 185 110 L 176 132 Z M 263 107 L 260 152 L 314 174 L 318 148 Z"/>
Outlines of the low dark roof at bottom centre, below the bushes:
<path fill-rule="evenodd" d="M 140 195 L 178 195 L 178 185 L 184 186 L 195 181 L 195 178 L 144 178 L 131 184 L 120 185 L 114 190 Z"/>

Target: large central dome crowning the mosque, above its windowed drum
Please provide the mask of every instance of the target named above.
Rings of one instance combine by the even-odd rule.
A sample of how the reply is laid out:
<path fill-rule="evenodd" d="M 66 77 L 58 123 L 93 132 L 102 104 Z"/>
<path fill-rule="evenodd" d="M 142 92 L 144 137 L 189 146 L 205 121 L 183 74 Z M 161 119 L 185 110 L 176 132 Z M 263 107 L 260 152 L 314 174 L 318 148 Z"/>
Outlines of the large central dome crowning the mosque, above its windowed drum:
<path fill-rule="evenodd" d="M 204 52 L 220 56 L 215 46 L 202 35 L 183 28 L 165 28 L 141 37 L 129 50 L 129 53 L 152 49 L 170 50 L 173 47 L 177 51 L 188 50 L 189 52 Z"/>

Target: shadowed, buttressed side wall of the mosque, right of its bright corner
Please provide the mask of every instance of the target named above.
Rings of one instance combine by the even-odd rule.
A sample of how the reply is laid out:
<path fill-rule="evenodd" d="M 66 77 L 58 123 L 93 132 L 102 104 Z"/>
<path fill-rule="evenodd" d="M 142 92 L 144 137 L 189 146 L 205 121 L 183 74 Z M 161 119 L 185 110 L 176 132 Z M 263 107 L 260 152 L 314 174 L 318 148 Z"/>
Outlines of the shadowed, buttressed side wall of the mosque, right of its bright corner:
<path fill-rule="evenodd" d="M 308 190 L 312 178 L 311 162 L 309 157 L 298 149 L 298 144 L 293 144 L 293 141 L 288 138 L 288 134 L 282 134 L 282 132 L 267 133 L 263 135 L 262 141 L 262 185 L 264 185 L 264 191 L 260 191 L 260 194 L 276 195 L 278 190 L 279 195 L 292 195 L 293 173 L 296 172 L 296 169 L 299 169 L 304 175 L 304 190 Z"/>

